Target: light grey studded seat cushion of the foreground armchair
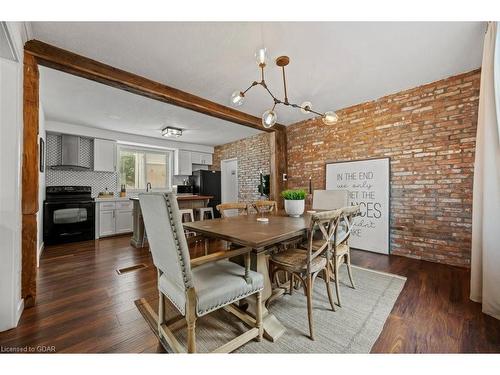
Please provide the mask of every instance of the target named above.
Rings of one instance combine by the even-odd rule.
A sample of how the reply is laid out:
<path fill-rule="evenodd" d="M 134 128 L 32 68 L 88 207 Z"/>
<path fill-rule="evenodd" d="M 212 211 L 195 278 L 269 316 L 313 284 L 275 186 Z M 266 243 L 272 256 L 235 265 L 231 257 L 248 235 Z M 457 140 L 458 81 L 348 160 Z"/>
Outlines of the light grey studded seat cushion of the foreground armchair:
<path fill-rule="evenodd" d="M 194 287 L 198 297 L 197 315 L 203 316 L 229 305 L 264 288 L 262 274 L 250 271 L 245 280 L 245 268 L 222 260 L 192 269 Z"/>

